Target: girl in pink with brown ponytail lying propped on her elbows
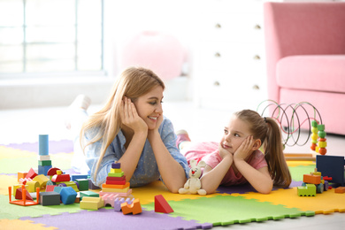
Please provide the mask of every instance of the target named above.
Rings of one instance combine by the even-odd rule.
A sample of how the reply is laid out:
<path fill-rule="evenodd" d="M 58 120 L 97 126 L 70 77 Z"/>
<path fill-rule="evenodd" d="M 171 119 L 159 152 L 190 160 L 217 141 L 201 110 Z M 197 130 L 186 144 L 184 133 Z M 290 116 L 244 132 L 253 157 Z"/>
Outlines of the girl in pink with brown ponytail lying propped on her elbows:
<path fill-rule="evenodd" d="M 256 111 L 238 111 L 217 142 L 192 143 L 186 131 L 178 134 L 177 145 L 190 159 L 206 162 L 202 188 L 214 193 L 219 185 L 249 182 L 258 192 L 268 194 L 272 186 L 287 188 L 291 175 L 283 155 L 280 127 Z M 265 154 L 259 148 L 263 146 Z"/>

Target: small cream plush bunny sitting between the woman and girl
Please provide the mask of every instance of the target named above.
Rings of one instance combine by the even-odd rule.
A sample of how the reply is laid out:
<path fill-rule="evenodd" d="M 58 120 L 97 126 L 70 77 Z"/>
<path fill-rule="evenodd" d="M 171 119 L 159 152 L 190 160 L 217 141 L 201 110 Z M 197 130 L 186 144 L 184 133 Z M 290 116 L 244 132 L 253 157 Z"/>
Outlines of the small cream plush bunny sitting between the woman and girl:
<path fill-rule="evenodd" d="M 202 168 L 206 166 L 206 163 L 202 160 L 196 164 L 196 160 L 190 160 L 189 179 L 184 185 L 184 188 L 179 189 L 180 194 L 199 194 L 206 195 L 206 191 L 201 188 L 201 181 L 199 177 L 202 174 Z"/>

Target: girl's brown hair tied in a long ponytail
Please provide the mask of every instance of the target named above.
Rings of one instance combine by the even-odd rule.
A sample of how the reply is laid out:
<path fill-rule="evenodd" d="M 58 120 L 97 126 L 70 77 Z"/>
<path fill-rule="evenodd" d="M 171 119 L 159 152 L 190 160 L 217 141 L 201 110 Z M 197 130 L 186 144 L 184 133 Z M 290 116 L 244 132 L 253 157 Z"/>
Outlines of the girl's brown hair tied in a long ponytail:
<path fill-rule="evenodd" d="M 254 139 L 261 140 L 273 185 L 288 188 L 291 174 L 283 154 L 280 126 L 272 118 L 262 118 L 257 111 L 237 111 L 234 115 L 249 124 Z"/>

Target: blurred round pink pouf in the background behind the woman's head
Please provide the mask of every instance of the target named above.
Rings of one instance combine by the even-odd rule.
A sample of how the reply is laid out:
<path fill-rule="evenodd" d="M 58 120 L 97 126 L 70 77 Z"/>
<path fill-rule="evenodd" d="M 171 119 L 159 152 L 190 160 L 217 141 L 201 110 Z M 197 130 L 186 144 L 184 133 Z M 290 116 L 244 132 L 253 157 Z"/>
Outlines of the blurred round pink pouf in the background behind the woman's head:
<path fill-rule="evenodd" d="M 144 31 L 126 42 L 120 67 L 142 66 L 151 69 L 163 80 L 170 80 L 180 76 L 184 58 L 185 50 L 173 35 Z"/>

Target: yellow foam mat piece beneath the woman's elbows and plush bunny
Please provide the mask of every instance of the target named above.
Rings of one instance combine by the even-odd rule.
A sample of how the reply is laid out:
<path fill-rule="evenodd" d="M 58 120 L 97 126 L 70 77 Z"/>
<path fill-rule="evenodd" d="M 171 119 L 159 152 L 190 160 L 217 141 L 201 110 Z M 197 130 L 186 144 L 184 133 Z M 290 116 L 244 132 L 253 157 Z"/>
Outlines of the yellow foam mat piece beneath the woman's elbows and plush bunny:
<path fill-rule="evenodd" d="M 200 197 L 218 196 L 219 194 L 215 193 L 215 194 L 211 194 L 207 196 L 200 196 L 198 194 L 192 194 L 192 195 L 173 194 L 165 187 L 162 181 L 155 181 L 144 187 L 132 188 L 132 195 L 135 198 L 139 198 L 140 203 L 148 204 L 148 203 L 154 203 L 155 196 L 157 195 L 164 196 L 166 201 L 180 201 L 184 199 L 199 199 Z"/>

